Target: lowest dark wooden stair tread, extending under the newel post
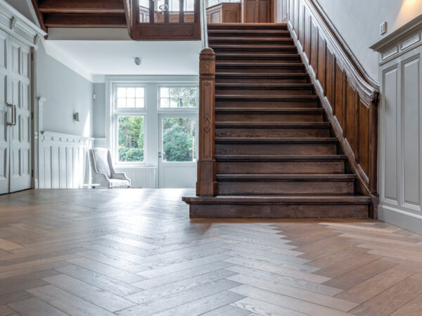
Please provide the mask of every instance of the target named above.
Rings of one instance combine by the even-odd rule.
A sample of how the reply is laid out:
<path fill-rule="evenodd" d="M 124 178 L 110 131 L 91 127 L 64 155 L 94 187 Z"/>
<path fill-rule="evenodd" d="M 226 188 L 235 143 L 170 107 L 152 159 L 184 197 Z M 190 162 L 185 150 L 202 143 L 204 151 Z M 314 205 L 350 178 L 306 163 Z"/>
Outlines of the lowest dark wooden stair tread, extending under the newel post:
<path fill-rule="evenodd" d="M 364 195 L 217 195 L 216 197 L 183 197 L 189 203 L 309 203 L 309 204 L 370 204 L 371 198 Z"/>

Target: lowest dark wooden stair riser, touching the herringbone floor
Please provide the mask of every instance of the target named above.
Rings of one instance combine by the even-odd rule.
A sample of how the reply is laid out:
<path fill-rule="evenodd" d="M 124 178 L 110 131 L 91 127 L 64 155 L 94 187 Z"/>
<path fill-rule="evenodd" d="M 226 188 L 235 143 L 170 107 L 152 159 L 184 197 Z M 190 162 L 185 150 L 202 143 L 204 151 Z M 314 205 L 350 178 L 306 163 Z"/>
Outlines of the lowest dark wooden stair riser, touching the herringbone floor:
<path fill-rule="evenodd" d="M 368 218 L 364 204 L 191 204 L 191 218 Z"/>

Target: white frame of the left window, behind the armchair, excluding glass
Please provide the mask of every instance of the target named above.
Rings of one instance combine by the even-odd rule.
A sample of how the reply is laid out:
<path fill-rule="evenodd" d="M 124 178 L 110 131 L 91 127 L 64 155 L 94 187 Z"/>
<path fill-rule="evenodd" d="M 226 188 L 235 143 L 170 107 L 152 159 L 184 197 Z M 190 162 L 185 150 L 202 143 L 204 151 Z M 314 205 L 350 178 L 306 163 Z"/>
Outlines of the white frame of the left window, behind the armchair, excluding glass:
<path fill-rule="evenodd" d="M 143 88 L 143 107 L 117 107 L 117 88 Z M 112 155 L 116 166 L 145 166 L 147 155 L 147 97 L 148 88 L 146 84 L 136 82 L 115 82 L 112 85 Z M 135 101 L 136 102 L 136 101 Z M 142 162 L 120 162 L 119 159 L 119 117 L 143 117 L 143 161 Z"/>

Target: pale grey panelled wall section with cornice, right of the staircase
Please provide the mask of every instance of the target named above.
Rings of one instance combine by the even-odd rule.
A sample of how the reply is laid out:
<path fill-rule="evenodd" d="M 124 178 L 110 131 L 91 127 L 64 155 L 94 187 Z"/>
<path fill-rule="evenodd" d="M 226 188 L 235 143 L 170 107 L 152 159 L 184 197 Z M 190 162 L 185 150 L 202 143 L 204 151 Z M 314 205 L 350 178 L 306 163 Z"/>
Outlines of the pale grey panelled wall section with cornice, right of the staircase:
<path fill-rule="evenodd" d="M 380 54 L 379 218 L 422 233 L 422 18 Z"/>

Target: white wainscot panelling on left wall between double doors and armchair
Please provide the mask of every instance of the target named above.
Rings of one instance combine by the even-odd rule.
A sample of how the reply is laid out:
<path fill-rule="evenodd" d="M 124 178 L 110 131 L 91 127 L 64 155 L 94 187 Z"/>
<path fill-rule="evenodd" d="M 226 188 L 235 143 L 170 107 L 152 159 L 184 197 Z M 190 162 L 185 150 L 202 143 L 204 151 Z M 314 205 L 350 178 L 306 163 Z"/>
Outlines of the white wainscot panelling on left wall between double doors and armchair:
<path fill-rule="evenodd" d="M 43 131 L 39 137 L 39 188 L 77 188 L 89 183 L 88 149 L 94 138 Z"/>

